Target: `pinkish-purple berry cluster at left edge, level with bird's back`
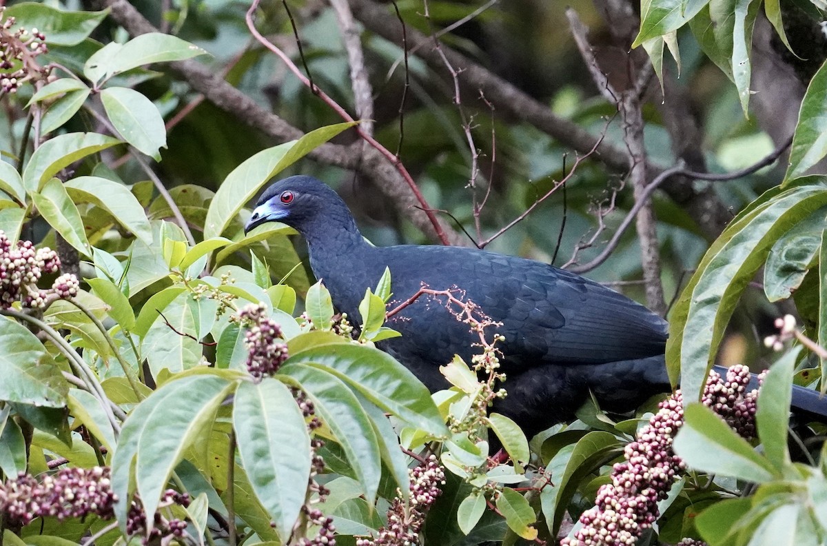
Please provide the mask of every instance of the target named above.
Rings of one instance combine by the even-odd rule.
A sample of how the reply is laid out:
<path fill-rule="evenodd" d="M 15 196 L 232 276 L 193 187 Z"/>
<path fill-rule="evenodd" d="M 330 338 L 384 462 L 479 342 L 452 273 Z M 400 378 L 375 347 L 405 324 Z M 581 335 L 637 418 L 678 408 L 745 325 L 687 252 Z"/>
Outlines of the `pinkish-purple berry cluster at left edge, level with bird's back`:
<path fill-rule="evenodd" d="M 78 295 L 79 282 L 74 275 L 60 275 L 49 290 L 37 287 L 41 276 L 57 273 L 60 259 L 48 247 L 35 249 L 31 241 L 18 241 L 12 247 L 0 231 L 0 308 L 9 309 L 21 302 L 23 307 L 44 309 L 55 299 Z"/>

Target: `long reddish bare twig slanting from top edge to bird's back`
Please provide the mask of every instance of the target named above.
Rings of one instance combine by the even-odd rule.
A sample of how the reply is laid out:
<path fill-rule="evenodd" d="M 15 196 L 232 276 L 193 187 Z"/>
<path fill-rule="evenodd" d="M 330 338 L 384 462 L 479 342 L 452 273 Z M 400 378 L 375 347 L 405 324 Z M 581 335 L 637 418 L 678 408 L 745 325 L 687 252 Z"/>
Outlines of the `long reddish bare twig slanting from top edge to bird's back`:
<path fill-rule="evenodd" d="M 264 45 L 268 50 L 275 53 L 275 55 L 277 55 L 282 60 L 282 62 L 284 62 L 284 65 L 287 66 L 287 68 L 299 79 L 299 81 L 301 81 L 302 84 L 304 84 L 305 86 L 309 87 L 309 79 L 301 73 L 299 67 L 295 65 L 293 60 L 291 60 L 289 56 L 286 55 L 284 51 L 282 51 L 278 46 L 276 46 L 275 44 L 267 40 L 264 36 L 262 36 L 258 29 L 256 29 L 256 24 L 255 22 L 253 22 L 253 16 L 256 12 L 256 9 L 258 9 L 259 2 L 261 2 L 261 0 L 253 0 L 250 9 L 247 10 L 245 17 L 247 28 L 250 30 L 251 34 L 256 38 L 256 40 L 259 41 L 259 43 L 261 43 L 261 45 Z M 340 117 L 342 117 L 342 119 L 344 119 L 346 122 L 356 121 L 349 113 L 347 113 L 347 110 L 342 108 L 342 106 L 339 103 L 330 98 L 327 95 L 327 93 L 325 93 L 322 89 L 318 89 L 317 87 L 316 95 L 318 96 L 318 98 L 321 98 L 323 102 L 327 104 L 328 107 L 332 108 L 332 110 L 336 112 Z M 354 127 L 354 129 L 356 130 L 356 133 L 359 136 L 361 136 L 361 138 L 368 141 L 370 143 L 370 146 L 373 146 L 377 151 L 379 151 L 383 156 L 385 156 L 387 160 L 390 161 L 391 165 L 394 165 L 394 168 L 399 172 L 399 175 L 402 175 L 405 182 L 409 185 L 411 191 L 414 192 L 414 196 L 416 196 L 417 201 L 423 207 L 423 210 L 425 214 L 428 216 L 428 220 L 433 225 L 434 232 L 437 233 L 437 237 L 439 237 L 439 240 L 442 242 L 442 244 L 448 245 L 448 238 L 442 229 L 442 225 L 440 225 L 439 220 L 437 220 L 437 217 L 433 214 L 433 212 L 430 211 L 428 202 L 425 200 L 422 192 L 419 191 L 419 188 L 416 182 L 414 182 L 413 177 L 411 177 L 408 170 L 405 169 L 404 165 L 402 165 L 402 163 L 399 161 L 399 158 L 394 156 L 394 154 L 388 151 L 388 149 L 385 148 L 385 146 L 382 146 L 378 141 L 375 140 L 373 136 L 366 134 L 366 132 L 362 131 L 358 126 Z"/>

